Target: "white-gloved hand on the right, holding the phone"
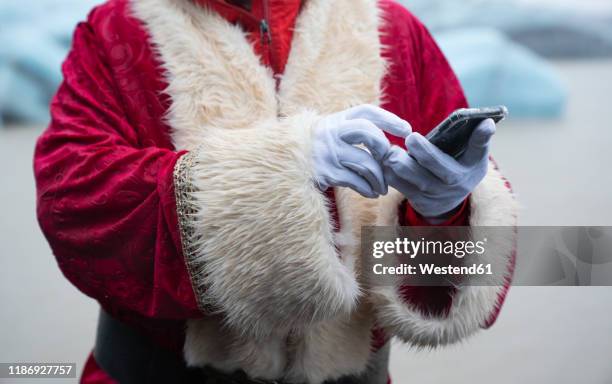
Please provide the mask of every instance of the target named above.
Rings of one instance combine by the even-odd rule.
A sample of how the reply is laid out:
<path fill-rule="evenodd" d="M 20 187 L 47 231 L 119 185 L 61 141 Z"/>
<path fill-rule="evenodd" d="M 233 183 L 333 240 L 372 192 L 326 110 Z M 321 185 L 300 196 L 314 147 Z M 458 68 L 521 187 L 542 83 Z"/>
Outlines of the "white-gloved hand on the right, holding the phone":
<path fill-rule="evenodd" d="M 385 179 L 425 218 L 439 218 L 459 206 L 485 177 L 494 133 L 493 120 L 480 123 L 457 160 L 413 133 L 406 139 L 408 152 L 396 146 L 389 150 L 383 160 Z"/>

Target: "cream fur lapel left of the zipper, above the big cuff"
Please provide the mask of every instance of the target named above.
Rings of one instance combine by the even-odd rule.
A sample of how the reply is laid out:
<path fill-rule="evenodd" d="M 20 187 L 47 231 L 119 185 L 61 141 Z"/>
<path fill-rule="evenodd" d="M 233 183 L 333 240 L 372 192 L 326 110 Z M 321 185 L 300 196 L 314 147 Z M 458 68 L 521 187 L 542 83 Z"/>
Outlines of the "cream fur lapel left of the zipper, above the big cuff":
<path fill-rule="evenodd" d="M 186 0 L 134 0 L 165 69 L 168 122 L 177 149 L 207 129 L 239 129 L 277 116 L 275 81 L 240 27 Z"/>

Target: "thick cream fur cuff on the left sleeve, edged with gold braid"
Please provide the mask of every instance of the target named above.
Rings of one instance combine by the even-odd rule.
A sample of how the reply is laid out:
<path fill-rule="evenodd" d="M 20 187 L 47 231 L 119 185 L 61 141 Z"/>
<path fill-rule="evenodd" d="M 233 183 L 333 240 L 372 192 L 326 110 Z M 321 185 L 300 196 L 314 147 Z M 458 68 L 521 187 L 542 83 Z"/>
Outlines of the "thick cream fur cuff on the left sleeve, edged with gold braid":
<path fill-rule="evenodd" d="M 338 256 L 327 199 L 313 182 L 311 127 L 299 114 L 209 130 L 177 164 L 183 251 L 202 307 L 265 337 L 350 313 L 352 260 Z"/>

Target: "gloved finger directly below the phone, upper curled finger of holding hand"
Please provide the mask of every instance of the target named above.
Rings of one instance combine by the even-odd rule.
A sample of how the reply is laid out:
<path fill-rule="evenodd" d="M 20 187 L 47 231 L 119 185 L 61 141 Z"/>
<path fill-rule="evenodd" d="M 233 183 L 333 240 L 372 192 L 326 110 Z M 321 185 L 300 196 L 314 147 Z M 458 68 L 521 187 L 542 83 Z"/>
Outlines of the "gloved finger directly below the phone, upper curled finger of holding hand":
<path fill-rule="evenodd" d="M 408 153 L 444 183 L 452 185 L 461 179 L 463 167 L 452 156 L 442 152 L 419 133 L 406 139 Z"/>

